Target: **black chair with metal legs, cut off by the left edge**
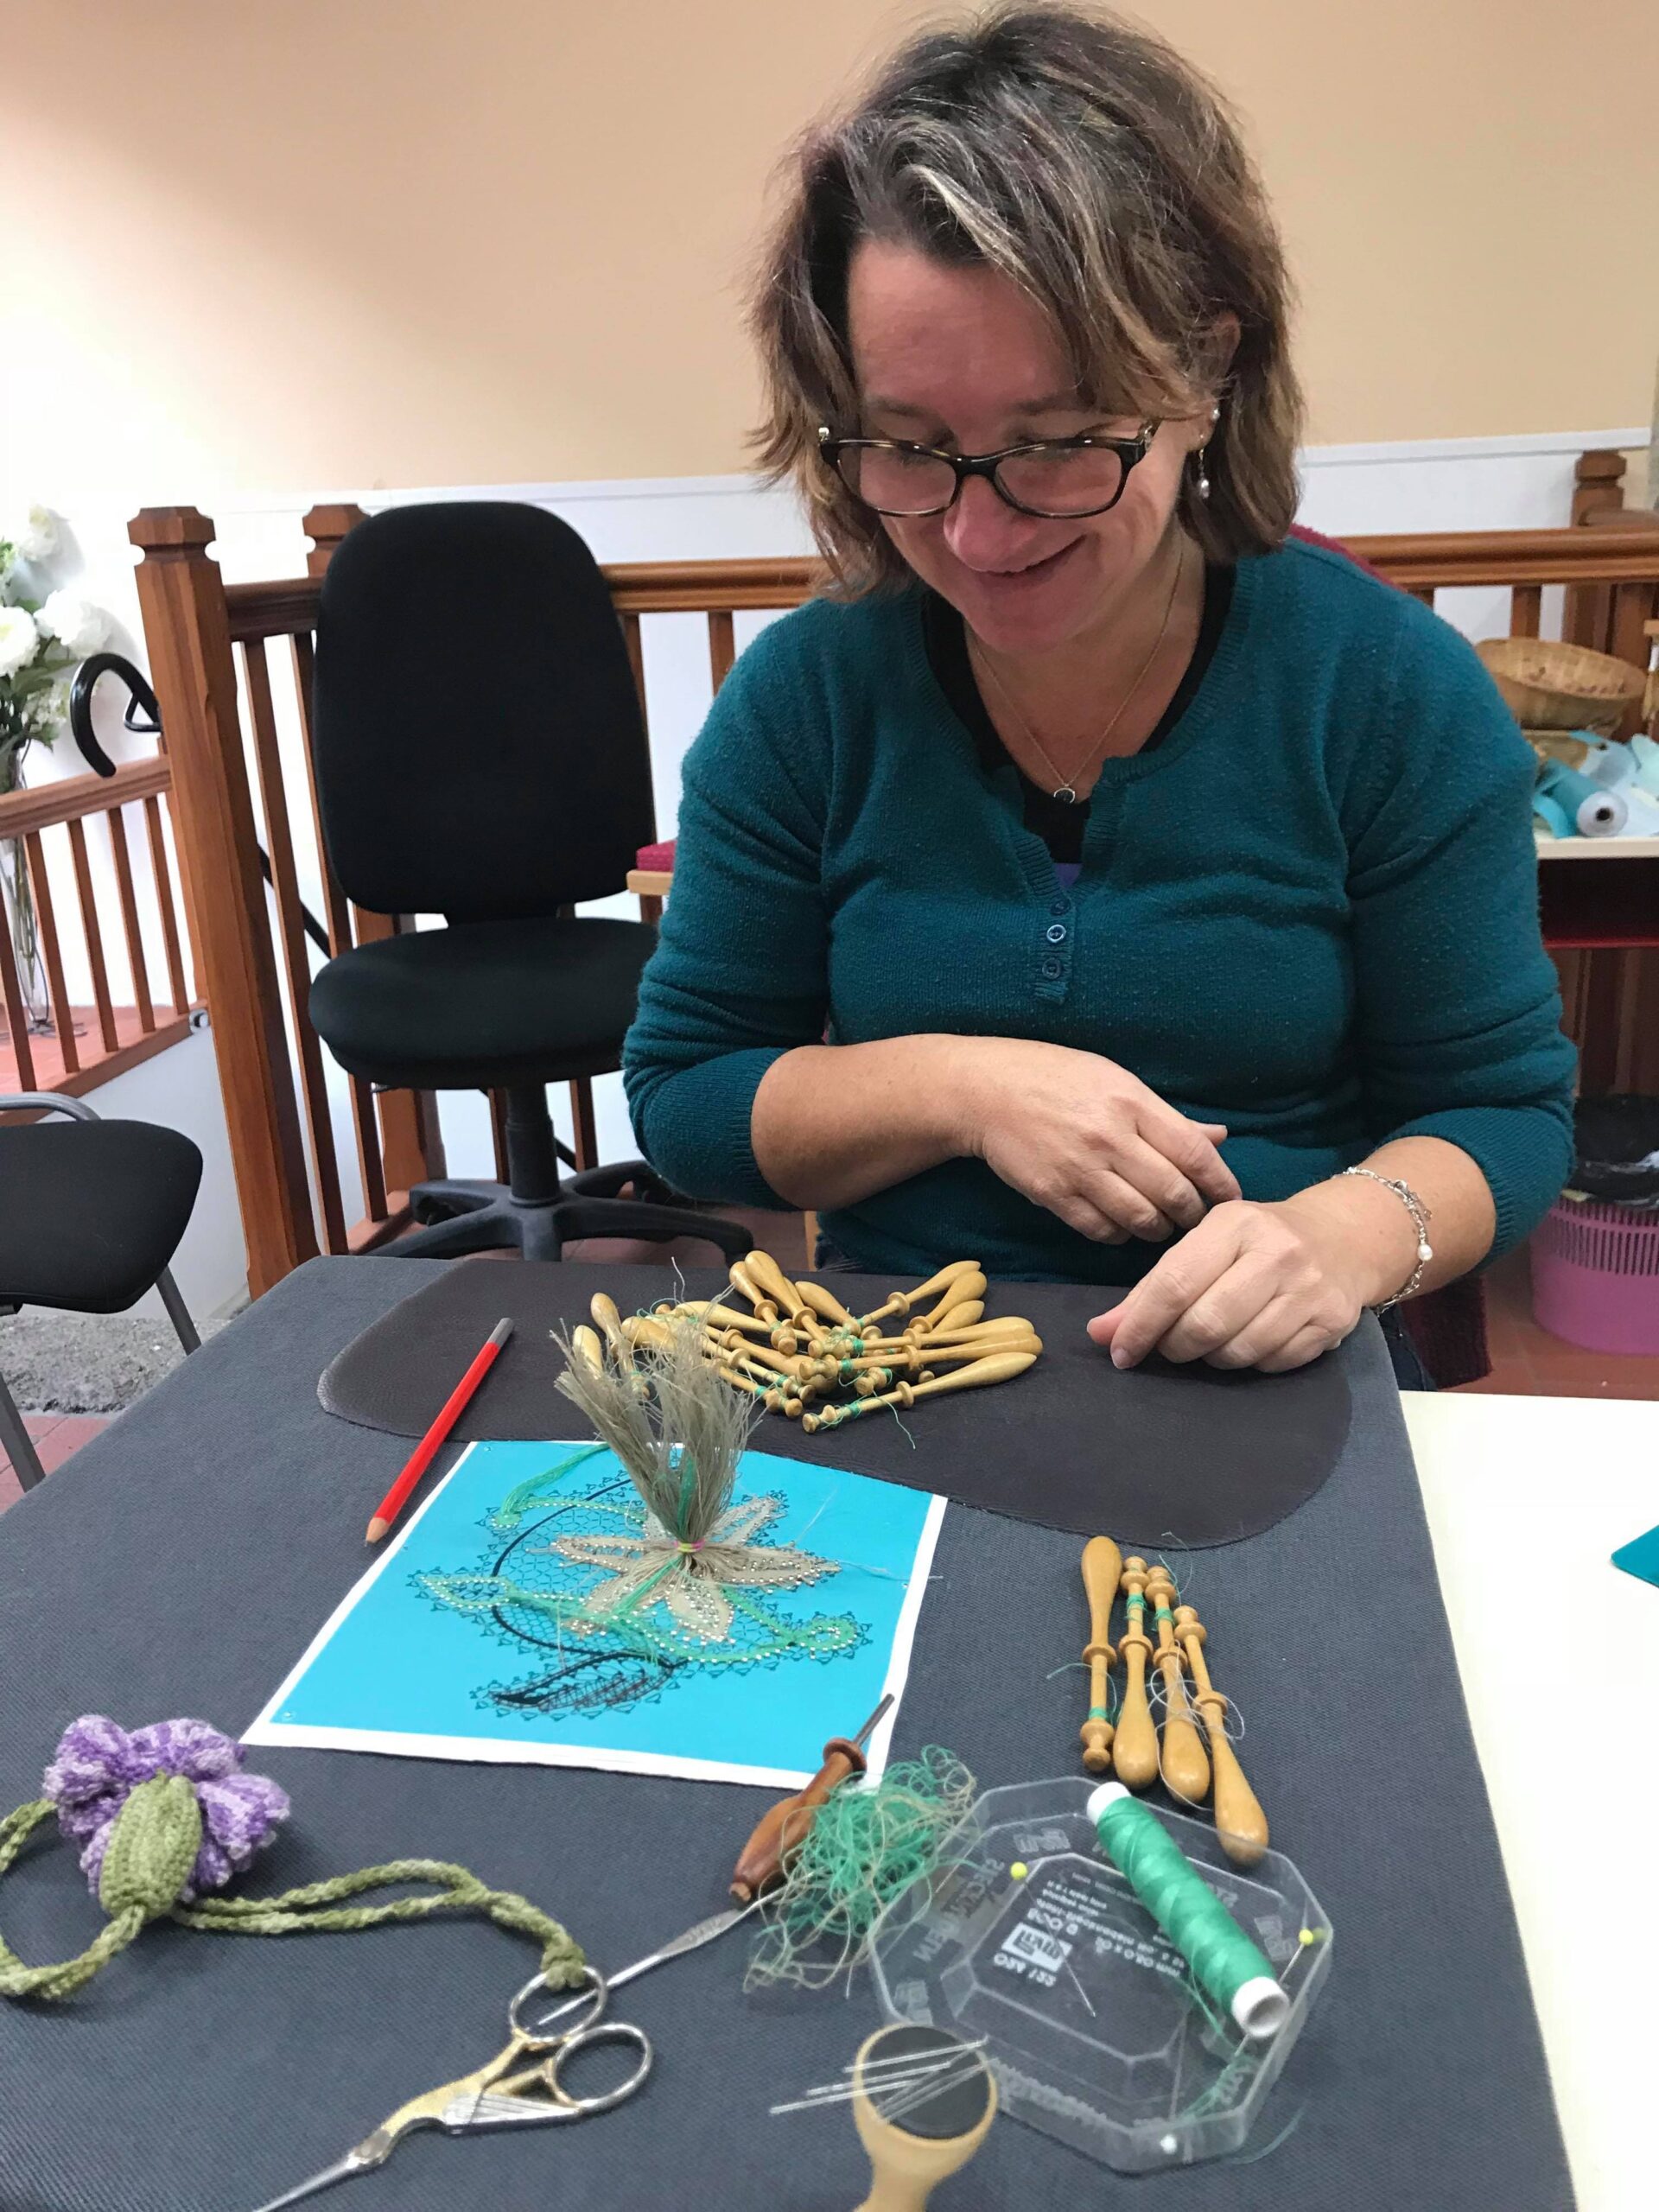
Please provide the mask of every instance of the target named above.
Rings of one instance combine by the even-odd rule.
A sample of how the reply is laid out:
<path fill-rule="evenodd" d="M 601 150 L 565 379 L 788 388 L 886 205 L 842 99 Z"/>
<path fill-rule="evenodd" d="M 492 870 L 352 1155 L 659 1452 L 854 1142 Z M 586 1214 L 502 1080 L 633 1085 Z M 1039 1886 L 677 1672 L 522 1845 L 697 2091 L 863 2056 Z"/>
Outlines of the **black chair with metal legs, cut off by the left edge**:
<path fill-rule="evenodd" d="M 190 1223 L 201 1152 L 175 1128 L 102 1121 L 58 1091 L 0 1095 L 0 1113 L 24 1106 L 71 1119 L 0 1128 L 0 1314 L 124 1314 L 155 1287 L 184 1349 L 199 1352 L 168 1261 Z M 2 1376 L 0 1444 L 27 1491 L 44 1480 Z"/>

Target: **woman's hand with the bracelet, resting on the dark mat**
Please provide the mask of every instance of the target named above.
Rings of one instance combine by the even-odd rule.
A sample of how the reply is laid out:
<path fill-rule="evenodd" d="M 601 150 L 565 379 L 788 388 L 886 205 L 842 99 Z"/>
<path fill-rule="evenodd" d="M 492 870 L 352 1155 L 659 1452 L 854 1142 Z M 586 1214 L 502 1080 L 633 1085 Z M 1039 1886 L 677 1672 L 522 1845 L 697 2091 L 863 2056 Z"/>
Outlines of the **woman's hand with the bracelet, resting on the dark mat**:
<path fill-rule="evenodd" d="M 1400 1221 L 1380 1221 L 1398 1232 L 1394 1272 L 1396 1254 L 1378 1254 L 1374 1239 L 1356 1234 L 1349 1210 L 1325 1192 L 1329 1186 L 1279 1203 L 1217 1206 L 1121 1305 L 1097 1314 L 1088 1334 L 1110 1349 L 1115 1367 L 1135 1367 L 1148 1352 L 1265 1374 L 1318 1358 L 1340 1345 L 1367 1303 L 1409 1276 L 1405 1239 L 1416 1245 L 1396 1199 Z"/>

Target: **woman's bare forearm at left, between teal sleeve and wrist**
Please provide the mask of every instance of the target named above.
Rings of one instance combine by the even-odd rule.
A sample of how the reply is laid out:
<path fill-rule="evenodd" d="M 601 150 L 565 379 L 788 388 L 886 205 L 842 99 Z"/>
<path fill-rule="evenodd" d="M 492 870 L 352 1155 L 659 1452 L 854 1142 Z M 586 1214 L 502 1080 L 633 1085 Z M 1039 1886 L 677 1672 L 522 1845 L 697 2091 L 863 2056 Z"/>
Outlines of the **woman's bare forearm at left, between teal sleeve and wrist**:
<path fill-rule="evenodd" d="M 973 1037 L 801 1044 L 761 1077 L 754 1164 L 792 1206 L 823 1212 L 967 1150 Z"/>

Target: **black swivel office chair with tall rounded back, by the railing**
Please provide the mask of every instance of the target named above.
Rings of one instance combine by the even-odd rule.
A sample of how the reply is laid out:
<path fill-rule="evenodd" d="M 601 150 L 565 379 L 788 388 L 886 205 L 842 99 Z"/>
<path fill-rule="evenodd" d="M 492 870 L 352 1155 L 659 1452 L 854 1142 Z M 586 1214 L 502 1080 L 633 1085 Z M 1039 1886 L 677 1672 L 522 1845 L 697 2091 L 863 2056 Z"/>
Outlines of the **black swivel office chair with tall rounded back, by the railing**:
<path fill-rule="evenodd" d="M 447 922 L 330 960 L 316 1033 L 378 1088 L 507 1099 L 511 1188 L 420 1183 L 429 1225 L 387 1250 L 557 1259 L 573 1237 L 706 1237 L 739 1259 L 750 1234 L 639 1159 L 560 1181 L 546 1084 L 622 1064 L 655 945 L 644 922 L 571 911 L 624 889 L 650 836 L 644 721 L 586 544 L 507 502 L 358 522 L 323 577 L 314 684 L 334 874 L 361 907 Z"/>

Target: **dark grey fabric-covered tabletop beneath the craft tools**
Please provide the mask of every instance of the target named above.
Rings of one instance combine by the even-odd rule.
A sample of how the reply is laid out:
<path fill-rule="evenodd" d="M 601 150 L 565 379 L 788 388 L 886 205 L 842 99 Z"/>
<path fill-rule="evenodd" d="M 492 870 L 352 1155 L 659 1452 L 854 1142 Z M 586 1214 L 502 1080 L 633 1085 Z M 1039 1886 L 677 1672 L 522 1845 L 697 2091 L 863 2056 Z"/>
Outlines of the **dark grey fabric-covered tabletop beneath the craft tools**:
<path fill-rule="evenodd" d="M 252 1721 L 363 1573 L 363 1522 L 407 1453 L 330 1420 L 316 1376 L 434 1272 L 314 1261 L 0 1515 L 0 1807 L 40 1790 L 80 1712 Z M 1336 1929 L 1327 1991 L 1252 2148 L 1290 2132 L 1254 2163 L 1126 2181 L 998 2121 L 938 2212 L 1573 2201 L 1376 1332 L 1349 1371 L 1354 1420 L 1318 1495 L 1188 1562 L 1274 1840 Z M 1071 1535 L 947 1511 L 898 1756 L 949 1743 L 984 1787 L 1077 1772 L 1086 1677 L 1055 1672 L 1088 1632 L 1077 1553 Z M 456 1858 L 555 1911 L 599 1964 L 712 1911 L 768 1803 L 719 1783 L 343 1752 L 257 1765 L 292 1792 L 294 1818 L 243 1893 L 398 1854 Z M 60 1845 L 0 1882 L 0 1927 L 27 1958 L 64 1958 L 100 1924 Z M 491 2055 L 526 1971 L 526 1947 L 478 1922 L 285 1942 L 148 1929 L 71 2004 L 0 2004 L 0 2203 L 252 2212 Z M 522 2137 L 422 2135 L 319 2205 L 847 2212 L 869 2181 L 847 2115 L 768 2106 L 852 2059 L 878 2024 L 874 1997 L 860 1982 L 852 1997 L 761 2004 L 741 1980 L 732 1936 L 617 1993 L 657 2042 L 657 2073 L 624 2110 Z"/>

